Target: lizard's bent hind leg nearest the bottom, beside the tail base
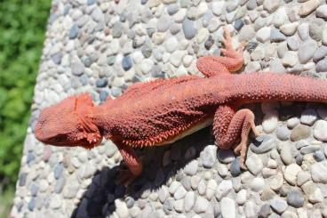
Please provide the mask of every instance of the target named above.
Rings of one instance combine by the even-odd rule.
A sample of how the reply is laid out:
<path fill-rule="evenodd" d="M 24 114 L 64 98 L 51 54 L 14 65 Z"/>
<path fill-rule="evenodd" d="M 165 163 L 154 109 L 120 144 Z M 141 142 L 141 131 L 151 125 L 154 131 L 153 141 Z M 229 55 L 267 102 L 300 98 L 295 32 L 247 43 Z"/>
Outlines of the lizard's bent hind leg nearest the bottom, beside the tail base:
<path fill-rule="evenodd" d="M 240 165 L 245 169 L 244 161 L 250 130 L 259 135 L 254 125 L 254 114 L 250 109 L 235 111 L 228 105 L 220 105 L 213 117 L 213 134 L 219 149 L 230 149 L 240 138 L 235 147 L 236 154 L 241 153 Z"/>

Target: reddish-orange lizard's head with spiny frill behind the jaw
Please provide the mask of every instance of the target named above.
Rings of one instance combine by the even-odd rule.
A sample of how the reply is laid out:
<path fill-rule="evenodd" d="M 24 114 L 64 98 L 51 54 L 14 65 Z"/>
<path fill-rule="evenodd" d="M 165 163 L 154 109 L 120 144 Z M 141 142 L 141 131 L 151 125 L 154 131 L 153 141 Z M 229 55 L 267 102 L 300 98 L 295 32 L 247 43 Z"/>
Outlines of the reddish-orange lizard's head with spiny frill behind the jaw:
<path fill-rule="evenodd" d="M 89 94 L 68 97 L 44 109 L 36 124 L 36 139 L 56 146 L 92 149 L 102 135 L 92 121 L 95 107 Z"/>

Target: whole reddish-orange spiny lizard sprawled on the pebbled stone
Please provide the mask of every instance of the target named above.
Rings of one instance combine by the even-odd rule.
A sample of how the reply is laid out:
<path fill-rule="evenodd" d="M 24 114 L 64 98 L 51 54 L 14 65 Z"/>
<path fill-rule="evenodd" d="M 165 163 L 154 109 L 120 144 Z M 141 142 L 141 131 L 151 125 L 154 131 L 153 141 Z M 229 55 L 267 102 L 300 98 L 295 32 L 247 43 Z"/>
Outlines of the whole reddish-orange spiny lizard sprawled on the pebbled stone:
<path fill-rule="evenodd" d="M 52 145 L 86 149 L 99 145 L 102 136 L 113 141 L 129 167 L 120 175 L 120 181 L 127 184 L 142 171 L 134 148 L 171 143 L 213 122 L 217 146 L 241 153 L 245 168 L 248 135 L 251 130 L 258 133 L 253 113 L 240 106 L 261 101 L 326 102 L 327 82 L 266 72 L 230 74 L 243 66 L 243 44 L 235 51 L 227 28 L 225 36 L 225 57 L 197 61 L 206 77 L 138 83 L 100 106 L 93 105 L 87 94 L 70 97 L 43 110 L 36 138 Z"/>

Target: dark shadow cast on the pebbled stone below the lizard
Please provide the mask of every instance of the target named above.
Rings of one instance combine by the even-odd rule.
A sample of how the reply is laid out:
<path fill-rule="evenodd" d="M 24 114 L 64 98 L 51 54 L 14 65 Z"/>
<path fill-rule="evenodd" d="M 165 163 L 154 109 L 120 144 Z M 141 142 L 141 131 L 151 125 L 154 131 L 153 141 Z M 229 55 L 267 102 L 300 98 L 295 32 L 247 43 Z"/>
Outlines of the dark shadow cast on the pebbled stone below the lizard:
<path fill-rule="evenodd" d="M 131 208 L 143 197 L 145 206 L 147 195 L 159 190 L 171 177 L 180 181 L 183 178 L 180 170 L 199 157 L 205 146 L 213 143 L 209 127 L 167 146 L 137 150 L 143 160 L 143 172 L 127 189 L 115 182 L 118 169 L 125 167 L 123 162 L 113 168 L 103 167 L 94 174 L 92 183 L 71 217 L 107 217 L 116 211 L 116 199 L 125 201 L 126 206 Z"/>

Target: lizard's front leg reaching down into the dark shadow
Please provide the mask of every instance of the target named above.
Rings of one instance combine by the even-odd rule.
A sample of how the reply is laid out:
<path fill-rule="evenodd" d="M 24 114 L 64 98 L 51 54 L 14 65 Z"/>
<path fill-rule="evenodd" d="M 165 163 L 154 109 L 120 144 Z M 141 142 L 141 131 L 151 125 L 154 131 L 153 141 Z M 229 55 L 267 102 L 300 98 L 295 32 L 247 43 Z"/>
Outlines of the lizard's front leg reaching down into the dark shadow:
<path fill-rule="evenodd" d="M 116 145 L 124 158 L 125 165 L 128 167 L 127 170 L 119 171 L 117 182 L 127 186 L 142 173 L 142 162 L 131 147 L 123 143 L 116 143 Z"/>

